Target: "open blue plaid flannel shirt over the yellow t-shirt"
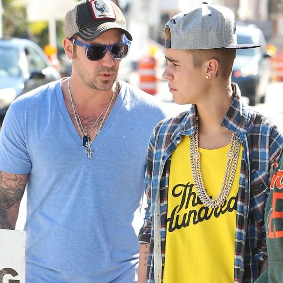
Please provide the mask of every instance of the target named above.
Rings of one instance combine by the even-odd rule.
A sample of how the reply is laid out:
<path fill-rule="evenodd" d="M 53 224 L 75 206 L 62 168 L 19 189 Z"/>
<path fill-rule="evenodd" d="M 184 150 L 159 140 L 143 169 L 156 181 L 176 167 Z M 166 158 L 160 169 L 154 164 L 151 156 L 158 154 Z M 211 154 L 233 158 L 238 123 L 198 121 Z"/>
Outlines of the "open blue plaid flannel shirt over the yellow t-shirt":
<path fill-rule="evenodd" d="M 266 258 L 264 208 L 273 166 L 283 147 L 283 134 L 272 122 L 236 95 L 222 126 L 236 133 L 243 144 L 236 216 L 234 282 L 253 283 Z M 148 207 L 140 243 L 149 243 L 147 283 L 162 282 L 165 260 L 170 162 L 182 136 L 196 131 L 196 105 L 188 112 L 161 121 L 149 142 L 145 193 Z M 191 255 L 193 256 L 193 255 Z"/>

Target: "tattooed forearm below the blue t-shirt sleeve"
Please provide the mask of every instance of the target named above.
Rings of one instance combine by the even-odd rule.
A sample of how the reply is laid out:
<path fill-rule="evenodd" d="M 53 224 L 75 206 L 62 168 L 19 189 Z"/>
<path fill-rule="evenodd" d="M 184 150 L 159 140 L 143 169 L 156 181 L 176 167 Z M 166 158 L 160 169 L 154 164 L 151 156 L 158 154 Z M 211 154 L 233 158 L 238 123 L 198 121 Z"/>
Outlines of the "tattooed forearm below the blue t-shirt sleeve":
<path fill-rule="evenodd" d="M 18 207 L 26 185 L 26 175 L 0 171 L 0 227 L 12 229 L 7 220 L 7 209 Z"/>

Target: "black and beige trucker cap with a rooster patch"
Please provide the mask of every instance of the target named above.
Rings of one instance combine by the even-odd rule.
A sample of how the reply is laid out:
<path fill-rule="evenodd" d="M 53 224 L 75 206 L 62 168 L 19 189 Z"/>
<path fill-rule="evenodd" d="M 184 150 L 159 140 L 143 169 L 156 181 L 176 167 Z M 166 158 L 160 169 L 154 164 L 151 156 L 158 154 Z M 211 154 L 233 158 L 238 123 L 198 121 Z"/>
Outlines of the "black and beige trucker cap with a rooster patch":
<path fill-rule="evenodd" d="M 120 8 L 110 0 L 82 0 L 65 16 L 64 33 L 67 38 L 77 34 L 91 41 L 103 32 L 118 28 L 129 40 L 133 40 L 126 29 L 126 20 Z"/>

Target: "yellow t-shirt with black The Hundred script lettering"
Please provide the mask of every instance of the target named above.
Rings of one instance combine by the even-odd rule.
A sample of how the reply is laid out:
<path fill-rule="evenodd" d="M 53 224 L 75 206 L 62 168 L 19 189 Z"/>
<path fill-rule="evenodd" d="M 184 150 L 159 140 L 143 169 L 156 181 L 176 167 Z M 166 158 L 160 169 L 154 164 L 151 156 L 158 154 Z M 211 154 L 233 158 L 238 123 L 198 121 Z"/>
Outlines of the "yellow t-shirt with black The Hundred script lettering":
<path fill-rule="evenodd" d="M 222 186 L 229 146 L 199 149 L 204 187 L 213 199 Z M 189 148 L 190 139 L 185 136 L 172 154 L 163 283 L 232 283 L 243 147 L 232 189 L 215 209 L 204 206 L 198 198 Z"/>

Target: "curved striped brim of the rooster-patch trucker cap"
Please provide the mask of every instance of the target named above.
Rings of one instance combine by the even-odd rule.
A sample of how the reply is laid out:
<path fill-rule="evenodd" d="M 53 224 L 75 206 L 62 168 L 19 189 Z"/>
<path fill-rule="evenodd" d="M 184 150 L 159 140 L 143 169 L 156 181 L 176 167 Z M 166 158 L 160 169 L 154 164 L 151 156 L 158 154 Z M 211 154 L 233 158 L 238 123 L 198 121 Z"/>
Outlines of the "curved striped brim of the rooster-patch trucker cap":
<path fill-rule="evenodd" d="M 128 40 L 133 40 L 131 34 L 117 22 L 104 22 L 99 25 L 92 25 L 88 28 L 79 31 L 77 35 L 85 41 L 91 41 L 96 39 L 103 32 L 114 28 L 118 28 L 122 32 L 124 32 Z"/>

